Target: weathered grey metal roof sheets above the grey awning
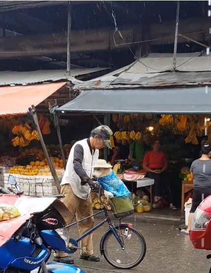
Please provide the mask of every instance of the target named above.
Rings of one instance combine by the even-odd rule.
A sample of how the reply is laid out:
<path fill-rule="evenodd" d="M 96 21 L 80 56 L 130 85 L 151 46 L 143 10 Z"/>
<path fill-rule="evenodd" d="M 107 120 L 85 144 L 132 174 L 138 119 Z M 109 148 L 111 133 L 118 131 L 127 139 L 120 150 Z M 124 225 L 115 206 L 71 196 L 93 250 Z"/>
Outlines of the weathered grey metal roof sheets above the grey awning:
<path fill-rule="evenodd" d="M 75 89 L 113 89 L 211 84 L 211 58 L 194 54 L 177 54 L 173 72 L 173 54 L 149 54 L 130 66 L 93 80 L 75 84 Z"/>

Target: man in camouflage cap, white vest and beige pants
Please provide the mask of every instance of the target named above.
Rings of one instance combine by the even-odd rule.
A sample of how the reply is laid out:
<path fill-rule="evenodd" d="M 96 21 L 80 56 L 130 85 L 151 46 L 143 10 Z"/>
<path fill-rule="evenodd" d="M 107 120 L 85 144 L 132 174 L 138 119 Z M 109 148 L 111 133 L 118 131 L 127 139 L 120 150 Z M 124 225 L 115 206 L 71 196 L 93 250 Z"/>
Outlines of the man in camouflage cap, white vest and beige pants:
<path fill-rule="evenodd" d="M 110 136 L 112 131 L 106 125 L 99 126 L 92 130 L 89 138 L 77 141 L 70 151 L 62 182 L 61 194 L 65 197 L 62 202 L 68 207 L 72 214 L 70 222 L 80 220 L 93 214 L 92 200 L 90 196 L 91 188 L 98 189 L 98 183 L 92 178 L 92 166 L 95 165 L 99 157 L 99 149 L 110 146 Z M 90 230 L 94 226 L 94 218 L 91 217 L 78 223 L 80 235 Z M 81 259 L 98 262 L 100 258 L 94 255 L 92 235 L 88 235 L 80 242 Z M 73 263 L 73 259 L 67 253 L 57 252 L 55 261 L 62 263 Z"/>

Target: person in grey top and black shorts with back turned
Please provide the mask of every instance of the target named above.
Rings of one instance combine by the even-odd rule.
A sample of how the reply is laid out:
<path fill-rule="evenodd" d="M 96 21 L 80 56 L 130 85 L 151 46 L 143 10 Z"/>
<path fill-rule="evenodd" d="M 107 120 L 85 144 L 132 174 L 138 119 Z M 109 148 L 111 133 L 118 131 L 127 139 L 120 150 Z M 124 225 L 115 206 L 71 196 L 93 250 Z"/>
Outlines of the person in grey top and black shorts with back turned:
<path fill-rule="evenodd" d="M 208 140 L 202 140 L 201 154 L 202 156 L 194 160 L 190 167 L 191 178 L 193 180 L 193 199 L 187 229 L 181 230 L 183 235 L 189 235 L 197 206 L 203 199 L 211 195 L 211 144 Z"/>

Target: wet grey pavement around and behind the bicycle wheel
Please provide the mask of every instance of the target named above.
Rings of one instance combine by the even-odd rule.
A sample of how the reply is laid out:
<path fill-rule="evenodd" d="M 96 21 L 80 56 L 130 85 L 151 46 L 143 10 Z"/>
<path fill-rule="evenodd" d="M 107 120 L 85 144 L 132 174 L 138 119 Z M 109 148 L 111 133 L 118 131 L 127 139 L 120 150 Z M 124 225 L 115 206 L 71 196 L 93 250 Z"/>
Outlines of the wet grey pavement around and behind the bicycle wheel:
<path fill-rule="evenodd" d="M 83 261 L 79 259 L 79 250 L 74 253 L 75 264 L 86 273 L 209 273 L 211 262 L 206 255 L 211 251 L 194 249 L 189 237 L 182 236 L 176 226 L 137 223 L 134 227 L 141 232 L 147 246 L 145 258 L 136 268 L 115 269 L 102 256 L 99 263 Z M 100 255 L 99 243 L 106 229 L 105 224 L 93 235 L 95 254 Z M 73 229 L 72 238 L 76 236 Z"/>

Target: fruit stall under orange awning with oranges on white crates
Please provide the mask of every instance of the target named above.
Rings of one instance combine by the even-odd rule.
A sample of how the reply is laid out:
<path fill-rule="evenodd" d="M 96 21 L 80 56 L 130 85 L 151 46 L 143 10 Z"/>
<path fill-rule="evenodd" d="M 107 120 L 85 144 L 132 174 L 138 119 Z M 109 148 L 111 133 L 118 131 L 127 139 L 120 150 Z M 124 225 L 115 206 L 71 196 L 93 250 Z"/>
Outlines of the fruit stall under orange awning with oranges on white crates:
<path fill-rule="evenodd" d="M 47 149 L 43 136 L 50 133 L 50 122 L 46 115 L 38 117 L 34 105 L 65 84 L 0 87 L 0 125 L 9 134 L 7 155 L 4 151 L 5 156 L 0 157 L 0 178 L 5 187 L 11 174 L 28 195 L 53 195 L 60 190 L 64 160 L 61 152 L 53 156 Z"/>

